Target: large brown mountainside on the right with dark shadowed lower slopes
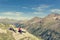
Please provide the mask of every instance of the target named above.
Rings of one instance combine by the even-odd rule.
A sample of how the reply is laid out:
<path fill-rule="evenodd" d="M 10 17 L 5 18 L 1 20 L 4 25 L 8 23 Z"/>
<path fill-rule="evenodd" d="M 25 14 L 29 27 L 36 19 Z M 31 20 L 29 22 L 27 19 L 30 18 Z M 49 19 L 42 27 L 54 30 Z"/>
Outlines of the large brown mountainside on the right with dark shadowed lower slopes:
<path fill-rule="evenodd" d="M 60 40 L 60 14 L 52 13 L 41 20 L 33 18 L 27 23 L 30 24 L 26 29 L 37 37 L 41 36 L 44 40 Z"/>

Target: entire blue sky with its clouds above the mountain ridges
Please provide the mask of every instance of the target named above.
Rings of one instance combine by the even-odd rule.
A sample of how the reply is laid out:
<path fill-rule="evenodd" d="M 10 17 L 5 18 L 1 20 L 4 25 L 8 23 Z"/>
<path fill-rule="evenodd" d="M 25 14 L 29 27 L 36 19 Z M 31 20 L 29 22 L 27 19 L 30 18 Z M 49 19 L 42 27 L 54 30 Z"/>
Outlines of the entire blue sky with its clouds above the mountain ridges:
<path fill-rule="evenodd" d="M 25 20 L 60 13 L 60 0 L 0 0 L 0 18 Z"/>

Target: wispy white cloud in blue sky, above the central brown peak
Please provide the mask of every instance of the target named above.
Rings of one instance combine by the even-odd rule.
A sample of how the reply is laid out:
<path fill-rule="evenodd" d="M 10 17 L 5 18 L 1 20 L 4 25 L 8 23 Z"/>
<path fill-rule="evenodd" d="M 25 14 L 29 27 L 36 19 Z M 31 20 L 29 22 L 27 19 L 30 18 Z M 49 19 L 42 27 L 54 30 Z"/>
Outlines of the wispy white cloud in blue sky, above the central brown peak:
<path fill-rule="evenodd" d="M 33 10 L 35 10 L 35 12 L 33 12 L 33 14 L 44 14 L 46 12 L 46 9 L 50 8 L 49 5 L 40 5 L 36 8 L 32 8 Z"/>

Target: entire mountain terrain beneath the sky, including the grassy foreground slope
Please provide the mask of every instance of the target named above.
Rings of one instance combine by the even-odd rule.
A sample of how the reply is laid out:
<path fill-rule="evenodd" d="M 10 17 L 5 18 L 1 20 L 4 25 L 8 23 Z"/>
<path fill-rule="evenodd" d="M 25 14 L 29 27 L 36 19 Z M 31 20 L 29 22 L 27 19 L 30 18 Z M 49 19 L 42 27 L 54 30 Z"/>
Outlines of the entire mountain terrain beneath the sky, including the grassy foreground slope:
<path fill-rule="evenodd" d="M 60 14 L 57 13 L 51 13 L 44 18 L 33 17 L 32 19 L 27 21 L 19 21 L 7 18 L 0 19 L 1 40 L 27 40 L 25 38 L 25 34 L 25 37 L 23 37 L 23 35 L 19 34 L 18 32 L 14 33 L 9 30 L 7 31 L 7 29 L 11 27 L 9 25 L 12 25 L 14 29 L 18 27 L 22 27 L 23 29 L 25 29 L 27 32 L 26 35 L 28 34 L 29 40 L 60 40 Z M 13 34 L 15 35 L 12 36 Z M 20 37 L 23 38 L 21 39 Z"/>

